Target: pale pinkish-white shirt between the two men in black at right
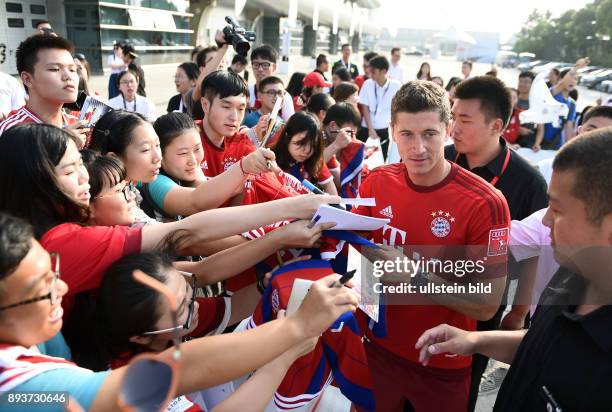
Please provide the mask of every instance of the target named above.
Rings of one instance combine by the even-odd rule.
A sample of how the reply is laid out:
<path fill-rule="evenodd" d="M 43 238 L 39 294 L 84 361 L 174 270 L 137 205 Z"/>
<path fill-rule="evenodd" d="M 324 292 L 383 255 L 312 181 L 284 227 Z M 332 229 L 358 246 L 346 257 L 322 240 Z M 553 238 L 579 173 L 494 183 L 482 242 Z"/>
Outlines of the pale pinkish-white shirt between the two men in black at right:
<path fill-rule="evenodd" d="M 510 226 L 510 250 L 517 262 L 539 256 L 532 302 L 537 302 L 559 264 L 555 260 L 550 240 L 550 229 L 542 223 L 546 209 L 538 210 L 523 220 L 513 220 Z M 536 304 L 531 305 L 531 314 Z"/>

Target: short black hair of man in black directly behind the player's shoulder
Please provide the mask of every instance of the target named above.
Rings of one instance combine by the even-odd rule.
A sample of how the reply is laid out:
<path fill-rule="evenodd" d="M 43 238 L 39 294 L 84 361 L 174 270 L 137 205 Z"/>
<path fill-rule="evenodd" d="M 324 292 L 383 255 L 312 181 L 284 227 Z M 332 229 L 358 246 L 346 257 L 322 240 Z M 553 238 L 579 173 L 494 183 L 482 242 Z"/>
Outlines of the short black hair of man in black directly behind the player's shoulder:
<path fill-rule="evenodd" d="M 477 76 L 459 83 L 455 99 L 477 99 L 486 121 L 501 119 L 503 127 L 508 125 L 512 114 L 510 92 L 504 82 L 496 77 Z"/>

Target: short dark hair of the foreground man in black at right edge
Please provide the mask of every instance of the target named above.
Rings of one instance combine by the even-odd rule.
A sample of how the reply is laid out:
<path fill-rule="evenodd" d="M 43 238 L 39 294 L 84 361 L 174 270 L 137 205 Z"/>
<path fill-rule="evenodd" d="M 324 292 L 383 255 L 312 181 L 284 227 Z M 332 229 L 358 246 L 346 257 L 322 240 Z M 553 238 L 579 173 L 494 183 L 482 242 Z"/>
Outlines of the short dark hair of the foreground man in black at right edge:
<path fill-rule="evenodd" d="M 553 161 L 555 172 L 575 172 L 571 193 L 584 202 L 595 226 L 612 213 L 612 127 L 593 130 L 563 145 Z"/>

